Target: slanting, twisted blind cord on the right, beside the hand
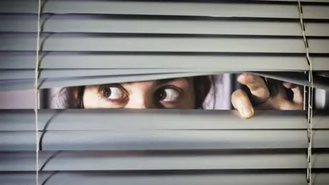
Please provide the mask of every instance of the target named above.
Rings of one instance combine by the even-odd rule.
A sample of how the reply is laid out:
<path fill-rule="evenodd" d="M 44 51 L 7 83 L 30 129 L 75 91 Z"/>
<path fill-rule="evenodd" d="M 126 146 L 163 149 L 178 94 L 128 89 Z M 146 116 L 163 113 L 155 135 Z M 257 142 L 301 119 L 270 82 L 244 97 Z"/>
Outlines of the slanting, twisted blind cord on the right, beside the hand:
<path fill-rule="evenodd" d="M 308 122 L 308 129 L 307 129 L 307 137 L 308 137 L 308 149 L 307 149 L 307 171 L 306 171 L 306 180 L 309 185 L 312 185 L 312 118 L 313 118 L 313 62 L 310 60 L 310 51 L 308 48 L 308 42 L 306 39 L 306 32 L 305 32 L 305 25 L 304 25 L 304 16 L 303 16 L 303 9 L 298 0 L 298 9 L 300 12 L 300 25 L 302 26 L 302 34 L 303 40 L 305 44 L 306 50 L 306 60 L 308 65 L 310 66 L 310 71 L 308 72 L 308 82 L 310 82 L 310 86 L 308 87 L 308 105 L 307 105 L 307 122 Z M 304 90 L 306 92 L 306 89 Z M 306 95 L 306 93 L 304 93 Z M 304 100 L 306 98 L 304 97 Z"/>

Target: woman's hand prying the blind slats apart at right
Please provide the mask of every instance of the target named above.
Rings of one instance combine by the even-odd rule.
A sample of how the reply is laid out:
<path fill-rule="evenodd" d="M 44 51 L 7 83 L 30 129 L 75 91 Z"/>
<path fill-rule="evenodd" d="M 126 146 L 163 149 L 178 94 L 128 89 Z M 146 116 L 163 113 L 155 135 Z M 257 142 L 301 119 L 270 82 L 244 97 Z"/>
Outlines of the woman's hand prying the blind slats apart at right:
<path fill-rule="evenodd" d="M 257 75 L 243 73 L 239 75 L 238 82 L 246 85 L 252 93 L 253 100 L 258 104 L 255 108 L 263 110 L 303 110 L 304 99 L 298 86 L 284 82 L 278 95 L 271 97 L 264 80 Z M 293 100 L 287 99 L 284 88 L 293 91 Z M 245 91 L 239 89 L 232 93 L 232 104 L 239 111 L 242 118 L 247 119 L 254 115 L 254 108 Z"/>

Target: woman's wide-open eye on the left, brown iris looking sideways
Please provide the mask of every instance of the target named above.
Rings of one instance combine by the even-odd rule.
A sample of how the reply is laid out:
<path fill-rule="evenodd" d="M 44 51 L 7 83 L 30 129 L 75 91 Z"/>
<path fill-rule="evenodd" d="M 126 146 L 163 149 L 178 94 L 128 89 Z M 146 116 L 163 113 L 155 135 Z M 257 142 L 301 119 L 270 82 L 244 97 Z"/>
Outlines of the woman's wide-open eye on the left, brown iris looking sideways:
<path fill-rule="evenodd" d="M 103 98 L 106 98 L 111 101 L 119 101 L 128 97 L 127 93 L 121 86 L 105 85 L 101 86 L 99 91 Z"/>

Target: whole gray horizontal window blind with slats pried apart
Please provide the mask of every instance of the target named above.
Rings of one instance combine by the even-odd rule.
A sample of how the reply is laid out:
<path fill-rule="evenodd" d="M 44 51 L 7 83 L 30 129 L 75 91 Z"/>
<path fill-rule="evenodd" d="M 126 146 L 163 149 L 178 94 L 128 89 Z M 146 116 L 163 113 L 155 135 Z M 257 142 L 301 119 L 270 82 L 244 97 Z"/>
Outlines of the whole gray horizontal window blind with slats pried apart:
<path fill-rule="evenodd" d="M 328 12 L 324 0 L 42 1 L 36 66 L 38 1 L 0 1 L 0 88 L 34 88 L 37 68 L 38 89 L 246 71 L 328 90 Z M 329 182 L 328 111 L 313 112 L 311 146 L 305 110 L 38 110 L 37 128 L 35 114 L 0 111 L 3 184 L 36 184 L 36 142 L 39 184 Z"/>

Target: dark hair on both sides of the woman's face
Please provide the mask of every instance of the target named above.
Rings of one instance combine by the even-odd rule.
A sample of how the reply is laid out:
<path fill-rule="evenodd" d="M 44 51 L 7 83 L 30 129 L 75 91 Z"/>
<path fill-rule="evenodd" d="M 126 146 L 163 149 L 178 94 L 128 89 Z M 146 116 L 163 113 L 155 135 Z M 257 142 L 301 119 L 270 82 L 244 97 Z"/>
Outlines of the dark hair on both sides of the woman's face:
<path fill-rule="evenodd" d="M 208 95 L 211 86 L 214 83 L 213 76 L 196 76 L 193 77 L 194 93 L 195 93 L 195 109 L 202 108 L 202 103 Z M 84 108 L 84 88 L 85 86 L 74 86 L 62 88 L 60 97 L 65 108 Z"/>

